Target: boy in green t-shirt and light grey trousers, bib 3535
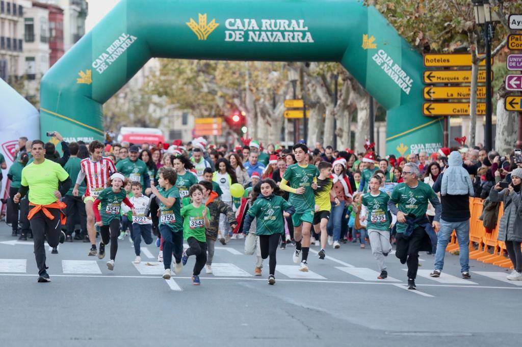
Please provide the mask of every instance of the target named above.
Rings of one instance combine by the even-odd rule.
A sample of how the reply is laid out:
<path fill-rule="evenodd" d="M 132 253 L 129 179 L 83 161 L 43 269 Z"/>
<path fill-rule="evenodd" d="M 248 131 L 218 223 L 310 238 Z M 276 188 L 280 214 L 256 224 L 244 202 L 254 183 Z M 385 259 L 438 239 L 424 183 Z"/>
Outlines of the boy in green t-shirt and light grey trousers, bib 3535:
<path fill-rule="evenodd" d="M 388 194 L 382 192 L 379 188 L 383 182 L 381 176 L 374 175 L 370 178 L 370 193 L 366 193 L 362 197 L 362 219 L 367 220 L 366 229 L 372 246 L 372 254 L 377 260 L 377 265 L 381 274 L 377 277 L 383 280 L 388 277 L 386 271 L 386 262 L 384 257 L 392 251 L 390 244 L 390 220 L 388 217 Z"/>

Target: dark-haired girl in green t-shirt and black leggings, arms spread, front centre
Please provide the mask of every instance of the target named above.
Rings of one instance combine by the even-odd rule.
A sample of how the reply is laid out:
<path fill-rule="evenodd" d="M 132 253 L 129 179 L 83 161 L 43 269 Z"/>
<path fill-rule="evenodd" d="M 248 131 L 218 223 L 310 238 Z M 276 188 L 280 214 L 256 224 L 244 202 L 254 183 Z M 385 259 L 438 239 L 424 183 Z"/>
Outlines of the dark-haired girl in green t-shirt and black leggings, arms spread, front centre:
<path fill-rule="evenodd" d="M 279 187 L 270 179 L 260 183 L 261 195 L 255 191 L 252 196 L 254 204 L 245 217 L 243 233 L 250 231 L 250 225 L 254 218 L 257 219 L 256 234 L 259 236 L 259 246 L 263 259 L 270 256 L 268 284 L 276 283 L 276 251 L 281 234 L 284 234 L 283 216 L 288 217 L 295 212 L 295 208 L 282 197 L 274 195 L 279 193 Z M 284 211 L 284 212 L 283 212 Z"/>

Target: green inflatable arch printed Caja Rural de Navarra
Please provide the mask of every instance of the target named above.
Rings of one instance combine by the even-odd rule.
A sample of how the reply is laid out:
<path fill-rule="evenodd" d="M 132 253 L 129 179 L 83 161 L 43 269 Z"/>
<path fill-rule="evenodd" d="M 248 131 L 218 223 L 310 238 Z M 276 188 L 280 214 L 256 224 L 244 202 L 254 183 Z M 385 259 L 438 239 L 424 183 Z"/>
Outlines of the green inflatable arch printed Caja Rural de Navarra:
<path fill-rule="evenodd" d="M 440 147 L 422 57 L 360 0 L 122 0 L 43 77 L 42 138 L 101 139 L 103 103 L 151 57 L 340 62 L 388 111 L 387 153 Z"/>

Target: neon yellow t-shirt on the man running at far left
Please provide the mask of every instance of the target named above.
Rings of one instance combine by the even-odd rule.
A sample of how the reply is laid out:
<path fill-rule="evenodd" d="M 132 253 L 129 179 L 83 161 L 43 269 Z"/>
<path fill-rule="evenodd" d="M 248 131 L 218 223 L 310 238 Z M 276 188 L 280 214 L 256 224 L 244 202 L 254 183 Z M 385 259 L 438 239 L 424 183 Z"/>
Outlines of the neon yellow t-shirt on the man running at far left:
<path fill-rule="evenodd" d="M 49 205 L 56 202 L 54 192 L 58 182 L 67 180 L 69 174 L 62 165 L 45 159 L 41 164 L 31 163 L 23 168 L 22 186 L 29 186 L 29 201 L 35 205 Z"/>

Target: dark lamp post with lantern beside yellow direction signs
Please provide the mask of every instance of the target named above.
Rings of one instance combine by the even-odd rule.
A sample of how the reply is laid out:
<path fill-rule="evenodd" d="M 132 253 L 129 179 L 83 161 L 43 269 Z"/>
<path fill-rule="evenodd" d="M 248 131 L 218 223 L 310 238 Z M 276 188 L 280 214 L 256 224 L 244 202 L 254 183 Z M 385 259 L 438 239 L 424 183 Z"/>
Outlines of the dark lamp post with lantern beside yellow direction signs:
<path fill-rule="evenodd" d="M 483 25 L 484 45 L 486 51 L 486 115 L 484 129 L 484 147 L 489 150 L 493 149 L 493 122 L 492 122 L 492 90 L 491 90 L 491 7 L 489 0 L 472 0 L 473 12 L 475 15 L 475 23 Z"/>

